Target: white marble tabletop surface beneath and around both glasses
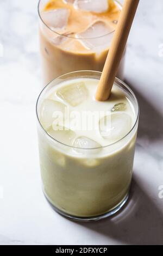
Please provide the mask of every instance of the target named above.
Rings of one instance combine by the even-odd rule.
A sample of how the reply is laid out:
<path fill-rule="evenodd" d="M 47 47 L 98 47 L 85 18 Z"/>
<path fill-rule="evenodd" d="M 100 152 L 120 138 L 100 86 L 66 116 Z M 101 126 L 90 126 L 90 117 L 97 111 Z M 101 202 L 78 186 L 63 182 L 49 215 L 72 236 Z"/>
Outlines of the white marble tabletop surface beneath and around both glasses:
<path fill-rule="evenodd" d="M 0 244 L 162 244 L 162 0 L 140 1 L 128 43 L 126 81 L 141 108 L 131 198 L 121 214 L 85 224 L 59 216 L 41 191 L 35 124 L 41 89 L 36 7 L 37 0 L 0 1 Z"/>

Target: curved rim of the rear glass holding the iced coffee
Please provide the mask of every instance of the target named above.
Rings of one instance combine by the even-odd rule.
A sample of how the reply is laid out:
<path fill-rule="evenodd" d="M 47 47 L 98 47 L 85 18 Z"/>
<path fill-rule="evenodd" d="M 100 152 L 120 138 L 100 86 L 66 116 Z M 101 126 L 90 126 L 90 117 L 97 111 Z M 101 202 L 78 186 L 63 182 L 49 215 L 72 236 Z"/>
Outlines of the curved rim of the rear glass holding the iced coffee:
<path fill-rule="evenodd" d="M 106 35 L 111 35 L 111 34 L 113 34 L 113 33 L 115 32 L 115 29 L 114 29 L 113 31 L 111 31 L 111 32 L 109 32 L 109 33 L 107 33 L 107 34 L 100 35 L 100 36 L 96 36 L 95 38 L 75 38 L 75 37 L 70 36 L 70 35 L 61 34 L 61 33 L 57 32 L 57 31 L 54 31 L 51 27 L 49 27 L 49 26 L 46 24 L 45 21 L 43 21 L 43 19 L 42 19 L 42 17 L 41 17 L 41 11 L 40 11 L 40 3 L 41 3 L 41 1 L 42 1 L 42 0 L 39 0 L 39 3 L 38 3 L 38 5 L 37 5 L 37 11 L 38 11 L 40 20 L 42 21 L 42 23 L 43 23 L 50 31 L 52 31 L 53 33 L 55 33 L 55 34 L 57 34 L 57 35 L 59 35 L 59 36 L 63 36 L 63 37 L 65 37 L 65 38 L 71 38 L 71 39 L 74 39 L 74 40 L 86 40 L 86 39 L 92 39 L 92 40 L 93 40 L 93 39 L 103 38 L 104 36 L 106 36 Z M 121 9 L 122 9 L 122 4 L 121 4 L 118 0 L 114 0 L 114 1 L 115 1 L 115 2 L 118 4 L 118 6 L 120 6 Z"/>

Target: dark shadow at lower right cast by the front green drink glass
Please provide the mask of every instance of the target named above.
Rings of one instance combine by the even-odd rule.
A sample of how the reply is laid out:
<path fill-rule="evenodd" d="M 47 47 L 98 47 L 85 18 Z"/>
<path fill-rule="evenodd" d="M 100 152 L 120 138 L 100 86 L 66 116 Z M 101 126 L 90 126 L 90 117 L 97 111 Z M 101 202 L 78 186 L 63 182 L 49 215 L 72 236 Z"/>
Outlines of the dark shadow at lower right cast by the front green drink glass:
<path fill-rule="evenodd" d="M 99 222 L 78 224 L 108 237 L 108 242 L 115 239 L 118 244 L 162 245 L 163 212 L 157 208 L 154 199 L 149 198 L 138 180 L 134 175 L 130 198 L 119 214 Z"/>

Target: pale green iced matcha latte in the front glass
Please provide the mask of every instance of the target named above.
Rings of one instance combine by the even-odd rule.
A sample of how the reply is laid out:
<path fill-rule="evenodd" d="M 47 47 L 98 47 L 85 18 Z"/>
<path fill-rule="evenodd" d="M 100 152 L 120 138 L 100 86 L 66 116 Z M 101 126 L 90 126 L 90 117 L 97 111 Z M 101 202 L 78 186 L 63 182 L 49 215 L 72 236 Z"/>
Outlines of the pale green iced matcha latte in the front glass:
<path fill-rule="evenodd" d="M 115 80 L 108 101 L 95 100 L 101 72 L 78 71 L 48 84 L 37 101 L 43 191 L 60 214 L 98 220 L 126 202 L 139 107 Z"/>

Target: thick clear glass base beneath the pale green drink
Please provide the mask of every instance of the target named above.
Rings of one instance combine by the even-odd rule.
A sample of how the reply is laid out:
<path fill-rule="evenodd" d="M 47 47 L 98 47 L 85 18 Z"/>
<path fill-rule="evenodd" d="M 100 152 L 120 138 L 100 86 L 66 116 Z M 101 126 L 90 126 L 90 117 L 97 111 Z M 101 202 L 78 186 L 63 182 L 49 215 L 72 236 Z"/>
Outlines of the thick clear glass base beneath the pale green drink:
<path fill-rule="evenodd" d="M 121 201 L 120 204 L 118 204 L 114 209 L 106 212 L 105 214 L 102 215 L 98 215 L 98 216 L 93 216 L 93 217 L 77 217 L 77 216 L 73 216 L 70 214 L 66 214 L 66 212 L 59 210 L 57 207 L 55 207 L 48 199 L 48 197 L 46 196 L 46 193 L 43 191 L 45 198 L 47 199 L 48 203 L 52 206 L 52 208 L 58 212 L 58 214 L 60 214 L 61 216 L 64 216 L 72 221 L 85 221 L 85 222 L 89 222 L 89 221 L 100 221 L 103 220 L 104 218 L 108 218 L 112 215 L 115 215 L 118 211 L 120 211 L 123 206 L 126 204 L 128 198 L 129 198 L 129 193 L 127 194 L 126 197 L 124 197 L 124 199 Z"/>

